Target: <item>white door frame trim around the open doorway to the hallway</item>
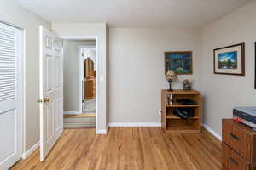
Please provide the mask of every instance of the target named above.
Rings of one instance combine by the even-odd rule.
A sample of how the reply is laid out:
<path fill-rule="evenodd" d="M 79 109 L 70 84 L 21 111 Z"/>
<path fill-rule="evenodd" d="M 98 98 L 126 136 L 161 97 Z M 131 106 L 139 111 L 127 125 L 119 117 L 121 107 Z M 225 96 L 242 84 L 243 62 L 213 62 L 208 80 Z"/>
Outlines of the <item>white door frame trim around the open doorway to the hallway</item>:
<path fill-rule="evenodd" d="M 99 72 L 99 38 L 98 36 L 61 36 L 61 39 L 67 39 L 67 40 L 96 40 L 96 74 L 98 75 Z M 80 52 L 79 52 L 80 53 Z M 99 115 L 99 98 L 101 96 L 98 93 L 98 88 L 99 88 L 99 82 L 100 82 L 100 77 L 96 76 L 96 132 L 98 132 L 99 126 L 98 126 L 98 115 Z"/>

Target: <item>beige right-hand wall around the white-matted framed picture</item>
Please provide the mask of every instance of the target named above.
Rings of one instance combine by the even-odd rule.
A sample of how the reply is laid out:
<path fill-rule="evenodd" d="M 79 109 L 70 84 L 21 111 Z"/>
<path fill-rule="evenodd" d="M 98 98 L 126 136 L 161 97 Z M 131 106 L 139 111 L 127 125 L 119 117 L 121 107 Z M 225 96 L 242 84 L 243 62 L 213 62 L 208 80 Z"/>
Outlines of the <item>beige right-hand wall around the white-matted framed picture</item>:
<path fill-rule="evenodd" d="M 248 3 L 203 29 L 204 123 L 221 134 L 221 119 L 231 118 L 235 106 L 255 106 L 254 42 L 256 2 Z M 213 49 L 245 42 L 246 76 L 213 74 Z"/>

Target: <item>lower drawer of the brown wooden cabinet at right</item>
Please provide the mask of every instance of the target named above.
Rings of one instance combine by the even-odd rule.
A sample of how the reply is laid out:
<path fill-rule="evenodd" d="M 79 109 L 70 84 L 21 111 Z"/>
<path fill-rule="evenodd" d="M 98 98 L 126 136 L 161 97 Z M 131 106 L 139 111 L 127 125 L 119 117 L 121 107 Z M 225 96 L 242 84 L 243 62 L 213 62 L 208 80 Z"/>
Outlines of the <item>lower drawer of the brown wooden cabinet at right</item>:
<path fill-rule="evenodd" d="M 231 150 L 227 144 L 222 144 L 223 170 L 250 170 L 250 161 Z"/>

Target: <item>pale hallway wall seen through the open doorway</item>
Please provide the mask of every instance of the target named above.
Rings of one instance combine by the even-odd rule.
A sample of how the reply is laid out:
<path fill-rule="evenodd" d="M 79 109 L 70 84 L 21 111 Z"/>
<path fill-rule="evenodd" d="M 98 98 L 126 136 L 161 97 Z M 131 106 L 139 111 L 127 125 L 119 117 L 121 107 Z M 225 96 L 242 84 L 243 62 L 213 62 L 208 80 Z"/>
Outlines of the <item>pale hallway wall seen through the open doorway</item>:
<path fill-rule="evenodd" d="M 81 112 L 81 47 L 96 47 L 94 40 L 64 40 L 64 111 Z"/>

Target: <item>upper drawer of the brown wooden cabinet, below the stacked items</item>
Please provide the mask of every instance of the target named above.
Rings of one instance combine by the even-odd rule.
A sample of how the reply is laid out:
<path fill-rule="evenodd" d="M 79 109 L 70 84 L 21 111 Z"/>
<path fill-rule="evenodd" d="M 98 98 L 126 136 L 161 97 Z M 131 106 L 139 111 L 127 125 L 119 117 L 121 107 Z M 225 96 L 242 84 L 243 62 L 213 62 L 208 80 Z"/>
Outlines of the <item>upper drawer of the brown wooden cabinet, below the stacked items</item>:
<path fill-rule="evenodd" d="M 223 120 L 222 134 L 225 144 L 228 144 L 247 160 L 252 159 L 253 135 L 247 133 L 247 129 L 244 125 Z"/>

